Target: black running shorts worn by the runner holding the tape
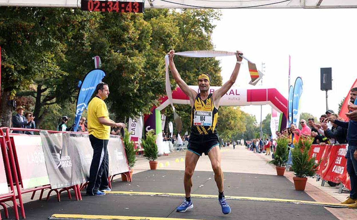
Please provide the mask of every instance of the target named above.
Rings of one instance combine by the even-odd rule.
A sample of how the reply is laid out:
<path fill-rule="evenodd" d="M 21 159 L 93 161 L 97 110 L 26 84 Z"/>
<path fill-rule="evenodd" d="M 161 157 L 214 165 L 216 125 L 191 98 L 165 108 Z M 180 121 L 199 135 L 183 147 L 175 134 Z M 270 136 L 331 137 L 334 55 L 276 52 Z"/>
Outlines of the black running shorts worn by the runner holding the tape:
<path fill-rule="evenodd" d="M 187 150 L 202 156 L 219 144 L 218 134 L 190 134 Z"/>

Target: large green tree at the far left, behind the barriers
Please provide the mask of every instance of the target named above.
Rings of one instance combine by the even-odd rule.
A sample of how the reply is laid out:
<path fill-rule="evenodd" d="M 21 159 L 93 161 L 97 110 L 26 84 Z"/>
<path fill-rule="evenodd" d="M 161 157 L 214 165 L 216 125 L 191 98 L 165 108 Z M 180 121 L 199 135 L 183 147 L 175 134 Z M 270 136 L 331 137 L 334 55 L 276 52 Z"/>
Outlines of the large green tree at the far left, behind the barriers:
<path fill-rule="evenodd" d="M 37 122 L 42 120 L 42 107 L 57 103 L 53 91 L 61 77 L 72 73 L 66 72 L 61 64 L 69 58 L 66 52 L 76 49 L 67 43 L 85 41 L 83 32 L 86 28 L 91 30 L 89 24 L 95 24 L 95 19 L 91 19 L 95 13 L 92 14 L 68 8 L 0 8 L 2 125 L 10 126 L 12 109 L 6 103 L 14 99 L 16 92 L 36 99 L 34 116 Z M 81 31 L 83 35 L 80 36 Z M 35 87 L 29 89 L 32 83 Z M 58 94 L 67 94 L 64 88 L 69 82 L 63 85 Z"/>

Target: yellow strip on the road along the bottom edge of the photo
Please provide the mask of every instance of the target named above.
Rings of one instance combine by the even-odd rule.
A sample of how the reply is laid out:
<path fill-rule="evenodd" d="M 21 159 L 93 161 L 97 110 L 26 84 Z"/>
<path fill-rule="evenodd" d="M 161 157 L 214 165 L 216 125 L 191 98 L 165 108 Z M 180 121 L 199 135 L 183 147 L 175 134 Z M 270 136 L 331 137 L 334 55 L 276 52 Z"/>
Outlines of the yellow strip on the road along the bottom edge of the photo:
<path fill-rule="evenodd" d="M 121 215 L 77 215 L 77 214 L 53 214 L 49 217 L 49 219 L 198 220 L 198 219 L 121 216 Z"/>

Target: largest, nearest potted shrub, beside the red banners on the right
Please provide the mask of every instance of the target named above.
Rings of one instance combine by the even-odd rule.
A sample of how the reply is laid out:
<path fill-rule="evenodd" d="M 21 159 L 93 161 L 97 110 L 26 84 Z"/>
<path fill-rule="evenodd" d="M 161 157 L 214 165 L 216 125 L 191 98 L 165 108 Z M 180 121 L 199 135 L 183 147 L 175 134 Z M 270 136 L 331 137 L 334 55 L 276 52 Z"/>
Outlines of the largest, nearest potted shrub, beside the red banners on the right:
<path fill-rule="evenodd" d="M 300 137 L 292 151 L 292 169 L 296 176 L 293 177 L 296 190 L 305 190 L 308 176 L 314 176 L 320 164 L 315 163 L 316 158 L 309 159 L 309 150 L 313 140 L 308 137 Z"/>

